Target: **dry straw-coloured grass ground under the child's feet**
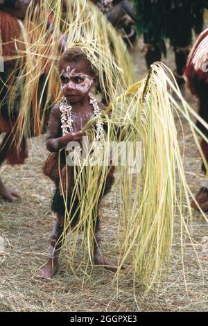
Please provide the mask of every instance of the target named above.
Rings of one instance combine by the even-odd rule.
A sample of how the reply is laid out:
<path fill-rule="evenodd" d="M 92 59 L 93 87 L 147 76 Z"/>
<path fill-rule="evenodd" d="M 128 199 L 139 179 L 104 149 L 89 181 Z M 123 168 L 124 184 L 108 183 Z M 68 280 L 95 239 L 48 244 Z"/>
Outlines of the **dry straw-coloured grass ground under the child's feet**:
<path fill-rule="evenodd" d="M 133 54 L 138 76 L 144 74 L 144 58 L 139 49 Z M 173 53 L 168 53 L 169 67 L 174 66 Z M 184 91 L 184 96 L 197 108 L 196 101 Z M 184 168 L 193 192 L 198 191 L 205 179 L 200 171 L 200 157 L 193 144 L 186 121 L 183 122 L 186 142 Z M 182 146 L 182 132 L 179 130 Z M 112 272 L 94 267 L 82 282 L 66 271 L 64 251 L 60 268 L 53 280 L 36 280 L 34 273 L 46 261 L 51 225 L 55 216 L 50 211 L 53 184 L 44 178 L 41 164 L 47 156 L 45 137 L 29 141 L 30 155 L 24 166 L 3 165 L 1 175 L 6 184 L 18 189 L 21 200 L 6 203 L 0 199 L 0 235 L 6 241 L 5 252 L 0 255 L 0 311 L 207 311 L 208 305 L 208 225 L 194 212 L 193 239 L 202 268 L 187 243 L 184 248 L 184 285 L 180 247 L 173 247 L 170 272 L 157 291 L 141 297 L 137 286 L 135 294 L 130 271 L 123 273 L 119 292 L 112 284 Z M 105 198 L 101 209 L 103 252 L 108 257 L 118 255 L 116 223 L 118 214 L 114 192 Z M 207 216 L 208 217 L 208 216 Z M 176 234 L 175 234 L 176 235 Z M 79 255 L 75 266 L 78 266 Z"/>

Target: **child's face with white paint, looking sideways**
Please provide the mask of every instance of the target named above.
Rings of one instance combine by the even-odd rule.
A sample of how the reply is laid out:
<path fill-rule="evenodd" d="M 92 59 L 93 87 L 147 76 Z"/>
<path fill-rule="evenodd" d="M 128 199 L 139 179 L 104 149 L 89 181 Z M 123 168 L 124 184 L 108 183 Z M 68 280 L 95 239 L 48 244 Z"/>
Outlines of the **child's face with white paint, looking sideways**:
<path fill-rule="evenodd" d="M 71 103 L 81 101 L 89 94 L 94 84 L 94 78 L 89 76 L 84 60 L 79 62 L 65 62 L 60 74 L 62 94 Z"/>

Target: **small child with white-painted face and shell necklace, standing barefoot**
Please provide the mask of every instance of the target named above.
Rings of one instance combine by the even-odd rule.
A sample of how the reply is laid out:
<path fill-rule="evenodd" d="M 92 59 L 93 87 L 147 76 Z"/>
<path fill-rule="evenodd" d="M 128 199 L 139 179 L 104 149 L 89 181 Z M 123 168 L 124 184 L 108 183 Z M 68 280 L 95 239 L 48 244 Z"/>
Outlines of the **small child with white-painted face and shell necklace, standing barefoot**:
<path fill-rule="evenodd" d="M 73 169 L 70 166 L 66 168 L 65 151 L 60 150 L 66 148 L 70 141 L 82 141 L 83 136 L 85 136 L 85 133 L 82 131 L 83 127 L 93 116 L 98 116 L 104 107 L 102 103 L 97 103 L 92 98 L 92 95 L 89 94 L 89 89 L 96 83 L 96 71 L 83 51 L 78 48 L 72 48 L 64 52 L 60 57 L 59 71 L 64 99 L 51 110 L 49 128 L 46 136 L 46 148 L 52 154 L 49 155 L 44 166 L 44 173 L 55 182 L 56 186 L 52 201 L 52 210 L 57 214 L 57 219 L 51 232 L 49 260 L 46 266 L 38 273 L 38 276 L 41 277 L 52 277 L 58 267 L 65 216 L 61 183 L 64 184 L 66 182 L 66 169 L 68 171 L 67 210 L 69 212 L 69 209 L 71 209 L 71 214 L 73 215 L 73 221 L 70 223 L 71 228 L 76 226 L 80 217 L 79 209 L 76 212 L 79 202 L 78 196 L 76 196 L 73 204 L 70 203 L 74 188 Z M 58 164 L 58 161 L 60 164 Z M 61 169 L 63 180 L 60 180 L 59 169 Z M 113 169 L 110 169 L 107 175 L 103 196 L 112 187 L 112 183 L 114 182 L 113 171 Z M 114 266 L 115 268 L 117 264 L 114 261 L 108 261 L 101 256 L 99 249 L 101 239 L 99 236 L 97 210 L 95 209 L 94 213 L 94 264 Z"/>

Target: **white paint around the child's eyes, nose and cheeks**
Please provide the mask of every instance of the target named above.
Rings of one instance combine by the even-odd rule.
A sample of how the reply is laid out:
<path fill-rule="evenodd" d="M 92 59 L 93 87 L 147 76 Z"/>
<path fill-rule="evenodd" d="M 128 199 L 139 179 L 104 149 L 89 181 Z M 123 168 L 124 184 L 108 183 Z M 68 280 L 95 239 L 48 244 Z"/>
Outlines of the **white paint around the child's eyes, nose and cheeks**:
<path fill-rule="evenodd" d="M 76 73 L 70 66 L 62 70 L 60 75 L 61 89 L 64 96 L 84 96 L 89 92 L 94 80 L 87 74 Z"/>

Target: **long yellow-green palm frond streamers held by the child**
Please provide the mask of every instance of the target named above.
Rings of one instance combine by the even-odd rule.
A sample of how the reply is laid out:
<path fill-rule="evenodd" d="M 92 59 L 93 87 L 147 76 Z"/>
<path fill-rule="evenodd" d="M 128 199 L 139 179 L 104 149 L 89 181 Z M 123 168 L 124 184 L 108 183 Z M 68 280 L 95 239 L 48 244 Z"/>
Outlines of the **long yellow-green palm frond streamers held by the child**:
<path fill-rule="evenodd" d="M 103 122 L 107 123 L 106 141 L 122 141 L 122 144 L 131 144 L 133 148 L 128 153 L 133 160 L 121 164 L 124 155 L 121 151 L 116 167 L 121 212 L 118 230 L 122 230 L 122 236 L 118 236 L 120 255 L 116 276 L 119 277 L 123 263 L 130 263 L 132 277 L 139 279 L 146 286 L 146 291 L 158 282 L 164 265 L 168 271 L 174 225 L 180 225 L 182 248 L 185 238 L 189 236 L 191 239 L 188 229 L 188 221 L 192 216 L 189 197 L 193 196 L 184 175 L 173 114 L 177 112 L 184 115 L 196 139 L 196 132 L 199 130 L 190 115 L 197 114 L 184 101 L 170 75 L 173 77 L 164 65 L 152 65 L 144 79 L 115 98 L 103 113 Z M 182 101 L 180 105 L 171 95 L 173 92 Z M 95 141 L 92 132 L 95 122 L 89 121 L 84 128 L 91 141 Z M 207 124 L 202 123 L 207 128 Z M 119 138 L 114 132 L 118 127 L 121 130 Z M 138 157 L 138 144 L 141 144 L 139 154 L 142 154 L 143 164 L 141 157 Z M 103 146 L 103 161 L 109 157 L 110 148 L 106 143 Z M 97 157 L 98 162 L 100 158 Z M 132 173 L 130 163 L 135 160 L 140 165 Z M 67 196 L 65 198 L 66 234 L 70 221 L 73 220 L 73 212 L 67 211 L 67 200 L 73 202 L 75 196 L 80 198 L 80 221 L 73 230 L 75 241 L 69 249 L 70 262 L 73 261 L 78 233 L 83 229 L 83 248 L 88 252 L 89 261 L 93 263 L 94 209 L 98 207 L 109 170 L 110 166 L 105 164 L 86 166 L 86 162 L 80 162 L 79 166 L 74 167 L 73 196 L 70 199 Z M 179 216 L 177 223 L 176 214 Z"/>

